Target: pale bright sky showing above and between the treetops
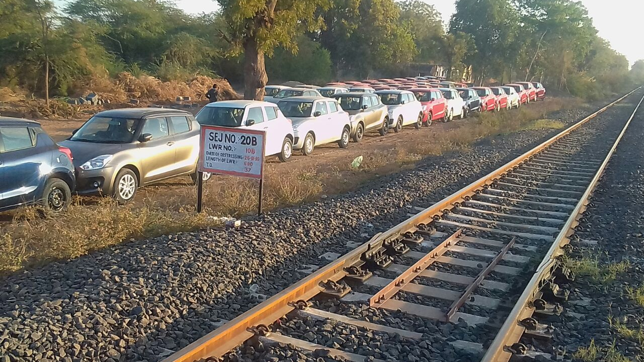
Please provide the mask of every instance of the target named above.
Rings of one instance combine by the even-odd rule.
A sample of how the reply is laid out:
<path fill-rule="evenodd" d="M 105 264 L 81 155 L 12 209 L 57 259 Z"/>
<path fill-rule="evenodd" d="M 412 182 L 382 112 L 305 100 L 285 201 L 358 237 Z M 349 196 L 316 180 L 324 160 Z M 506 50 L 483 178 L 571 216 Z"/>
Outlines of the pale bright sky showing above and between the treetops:
<path fill-rule="evenodd" d="M 445 22 L 454 12 L 454 1 L 423 0 L 434 5 Z M 216 10 L 213 0 L 175 0 L 179 8 L 191 14 Z M 588 14 L 601 37 L 611 43 L 614 50 L 626 55 L 630 64 L 644 59 L 644 46 L 641 43 L 641 23 L 644 19 L 644 1 L 641 0 L 582 0 Z"/>

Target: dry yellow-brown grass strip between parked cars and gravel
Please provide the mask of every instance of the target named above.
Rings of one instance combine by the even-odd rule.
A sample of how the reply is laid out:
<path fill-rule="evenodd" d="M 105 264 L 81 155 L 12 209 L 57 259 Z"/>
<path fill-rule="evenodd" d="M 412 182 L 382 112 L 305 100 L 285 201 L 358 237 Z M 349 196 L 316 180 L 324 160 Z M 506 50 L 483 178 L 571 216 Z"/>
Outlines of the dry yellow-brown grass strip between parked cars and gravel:
<path fill-rule="evenodd" d="M 126 88 L 128 94 L 163 96 L 154 93 L 153 87 L 158 86 L 158 81 L 149 78 L 135 80 L 131 76 L 124 79 L 129 84 Z M 210 81 L 200 79 L 198 82 L 205 88 L 211 86 L 208 85 Z M 197 87 L 196 84 L 191 86 Z M 280 171 L 273 164 L 267 164 L 265 209 L 311 202 L 325 193 L 350 191 L 378 176 L 413 168 L 424 157 L 469 151 L 472 144 L 491 135 L 535 129 L 535 124 L 538 128 L 558 128 L 558 125 L 543 120 L 545 114 L 564 105 L 552 99 L 518 111 L 486 113 L 437 137 L 428 137 L 426 142 L 406 142 L 390 149 L 365 151 L 358 167 L 352 166 L 355 154 L 347 155 L 346 159 L 334 162 L 334 165 L 295 171 Z M 203 214 L 194 213 L 192 205 L 196 200 L 196 188 L 188 184 L 173 187 L 163 197 L 159 197 L 155 187 L 141 189 L 144 196 L 146 193 L 151 196 L 145 197 L 149 201 L 143 205 L 118 206 L 109 199 L 99 200 L 97 205 L 86 205 L 86 200 L 81 199 L 71 205 L 66 214 L 44 219 L 33 208 L 23 209 L 16 213 L 12 224 L 3 225 L 0 233 L 3 234 L 0 238 L 0 273 L 50 260 L 76 258 L 128 240 L 211 226 L 214 224 L 211 216 L 254 213 L 257 188 L 255 180 L 214 178 L 205 187 L 204 205 L 207 209 Z M 91 202 L 95 202 L 95 198 Z"/>

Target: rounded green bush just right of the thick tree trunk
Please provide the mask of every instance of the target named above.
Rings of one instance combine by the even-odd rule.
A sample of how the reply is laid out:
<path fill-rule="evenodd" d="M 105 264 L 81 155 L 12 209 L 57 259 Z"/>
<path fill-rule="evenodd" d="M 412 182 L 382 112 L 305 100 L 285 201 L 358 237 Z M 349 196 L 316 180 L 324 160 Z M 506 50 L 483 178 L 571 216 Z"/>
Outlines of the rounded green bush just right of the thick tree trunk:
<path fill-rule="evenodd" d="M 278 48 L 274 56 L 266 60 L 266 70 L 270 79 L 276 81 L 323 84 L 331 79 L 331 57 L 328 50 L 301 36 L 297 53 Z"/>

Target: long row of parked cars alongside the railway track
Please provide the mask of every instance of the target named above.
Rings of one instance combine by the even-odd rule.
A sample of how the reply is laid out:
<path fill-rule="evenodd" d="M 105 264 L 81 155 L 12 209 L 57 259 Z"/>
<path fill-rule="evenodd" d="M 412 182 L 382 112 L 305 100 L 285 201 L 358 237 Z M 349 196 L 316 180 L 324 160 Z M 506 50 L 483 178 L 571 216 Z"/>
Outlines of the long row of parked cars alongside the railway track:
<path fill-rule="evenodd" d="M 213 102 L 196 116 L 164 108 L 102 111 L 59 144 L 37 122 L 0 117 L 0 211 L 40 204 L 60 212 L 72 193 L 125 204 L 141 186 L 184 175 L 197 182 L 200 125 L 263 130 L 266 155 L 285 162 L 322 144 L 346 148 L 367 132 L 384 136 L 540 99 L 545 88 L 538 82 L 470 87 L 435 77 L 267 86 L 263 101 Z"/>

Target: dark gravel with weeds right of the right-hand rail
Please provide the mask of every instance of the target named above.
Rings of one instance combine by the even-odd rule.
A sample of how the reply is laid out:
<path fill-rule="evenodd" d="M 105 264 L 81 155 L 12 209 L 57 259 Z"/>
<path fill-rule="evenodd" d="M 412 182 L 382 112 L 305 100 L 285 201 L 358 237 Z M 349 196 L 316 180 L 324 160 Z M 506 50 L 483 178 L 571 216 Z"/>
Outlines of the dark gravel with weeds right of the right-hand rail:
<path fill-rule="evenodd" d="M 632 108 L 624 107 L 623 113 L 631 111 Z M 628 287 L 637 288 L 644 281 L 643 137 L 644 111 L 640 109 L 612 156 L 578 227 L 580 238 L 598 243 L 576 247 L 569 255 L 572 260 L 598 258 L 602 270 L 622 261 L 628 261 L 630 266 L 617 274 L 614 281 L 582 274 L 565 286 L 571 291 L 564 303 L 565 310 L 583 314 L 582 318 L 564 314 L 550 320 L 556 328 L 551 345 L 565 349 L 567 359 L 578 348 L 588 347 L 591 340 L 599 351 L 597 360 L 604 360 L 611 350 L 631 361 L 640 361 L 644 356 L 644 347 L 637 335 L 625 336 L 617 329 L 621 325 L 637 334 L 644 326 L 644 305 L 631 300 L 627 293 Z M 552 348 L 540 343 L 533 343 L 533 347 L 547 352 Z"/>

